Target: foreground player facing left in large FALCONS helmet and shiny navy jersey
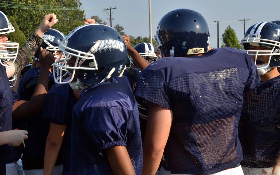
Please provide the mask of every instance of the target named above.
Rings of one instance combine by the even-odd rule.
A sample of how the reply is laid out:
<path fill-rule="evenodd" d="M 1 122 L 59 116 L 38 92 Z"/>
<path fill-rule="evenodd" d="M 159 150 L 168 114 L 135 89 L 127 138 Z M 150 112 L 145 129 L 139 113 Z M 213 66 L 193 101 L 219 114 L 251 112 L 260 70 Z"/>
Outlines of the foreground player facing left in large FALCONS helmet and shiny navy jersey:
<path fill-rule="evenodd" d="M 141 174 L 138 109 L 122 36 L 109 26 L 86 24 L 59 48 L 66 59 L 54 63 L 56 82 L 84 89 L 72 114 L 70 174 Z M 68 81 L 62 81 L 62 69 L 72 72 Z"/>

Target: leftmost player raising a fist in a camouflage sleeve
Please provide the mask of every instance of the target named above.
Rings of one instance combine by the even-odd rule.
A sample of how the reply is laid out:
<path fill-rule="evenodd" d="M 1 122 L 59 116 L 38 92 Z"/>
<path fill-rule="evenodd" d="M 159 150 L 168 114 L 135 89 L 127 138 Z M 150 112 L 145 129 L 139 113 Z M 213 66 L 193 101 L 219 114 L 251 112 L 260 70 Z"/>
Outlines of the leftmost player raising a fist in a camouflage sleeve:
<path fill-rule="evenodd" d="M 5 36 L 7 33 L 14 32 L 14 27 L 9 22 L 6 15 L 0 11 L 0 79 L 1 81 L 1 104 L 0 104 L 0 154 L 5 155 L 7 144 L 12 146 L 20 145 L 27 139 L 27 131 L 10 130 L 12 122 L 12 92 L 8 77 L 21 71 L 28 63 L 29 55 L 34 55 L 35 51 L 42 42 L 42 35 L 49 30 L 58 20 L 54 14 L 46 15 L 41 25 L 30 36 L 27 43 L 18 49 L 18 43 L 9 42 Z M 16 53 L 14 53 L 16 51 Z M 18 59 L 16 59 L 18 57 Z M 6 67 L 6 69 L 5 69 Z M 7 75 L 7 76 L 6 76 Z M 0 158 L 0 174 L 5 174 L 5 157 Z"/>

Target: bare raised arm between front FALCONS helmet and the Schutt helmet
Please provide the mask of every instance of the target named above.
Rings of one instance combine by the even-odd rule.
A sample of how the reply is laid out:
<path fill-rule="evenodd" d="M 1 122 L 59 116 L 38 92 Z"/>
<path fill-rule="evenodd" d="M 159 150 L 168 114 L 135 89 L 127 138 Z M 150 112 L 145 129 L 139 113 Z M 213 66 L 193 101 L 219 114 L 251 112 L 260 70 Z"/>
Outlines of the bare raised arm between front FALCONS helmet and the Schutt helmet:
<path fill-rule="evenodd" d="M 150 63 L 144 59 L 130 44 L 130 36 L 124 35 L 122 36 L 126 43 L 126 48 L 127 48 L 127 53 L 131 56 L 133 59 L 134 63 L 136 64 L 137 67 L 141 69 L 145 69 L 150 65 Z"/>

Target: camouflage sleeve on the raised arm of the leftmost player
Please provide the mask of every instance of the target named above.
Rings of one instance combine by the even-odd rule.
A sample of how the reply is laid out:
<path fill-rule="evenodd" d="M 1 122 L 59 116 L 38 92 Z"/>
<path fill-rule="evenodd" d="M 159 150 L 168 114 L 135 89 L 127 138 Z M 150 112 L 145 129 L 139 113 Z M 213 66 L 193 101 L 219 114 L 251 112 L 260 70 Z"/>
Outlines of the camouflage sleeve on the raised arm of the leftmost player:
<path fill-rule="evenodd" d="M 20 72 L 24 66 L 29 63 L 30 59 L 42 42 L 43 39 L 34 33 L 30 36 L 28 41 L 20 49 L 18 49 L 18 56 L 14 62 L 15 74 Z"/>

